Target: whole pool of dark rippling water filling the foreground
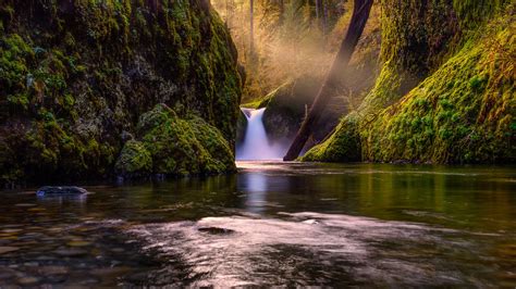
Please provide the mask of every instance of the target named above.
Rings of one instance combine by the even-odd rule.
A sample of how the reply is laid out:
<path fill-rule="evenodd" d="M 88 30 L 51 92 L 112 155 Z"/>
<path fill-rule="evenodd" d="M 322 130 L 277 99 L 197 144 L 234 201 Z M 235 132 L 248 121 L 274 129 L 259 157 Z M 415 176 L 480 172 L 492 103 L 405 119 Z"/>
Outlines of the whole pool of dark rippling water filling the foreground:
<path fill-rule="evenodd" d="M 516 167 L 239 163 L 1 192 L 0 287 L 516 287 Z"/>

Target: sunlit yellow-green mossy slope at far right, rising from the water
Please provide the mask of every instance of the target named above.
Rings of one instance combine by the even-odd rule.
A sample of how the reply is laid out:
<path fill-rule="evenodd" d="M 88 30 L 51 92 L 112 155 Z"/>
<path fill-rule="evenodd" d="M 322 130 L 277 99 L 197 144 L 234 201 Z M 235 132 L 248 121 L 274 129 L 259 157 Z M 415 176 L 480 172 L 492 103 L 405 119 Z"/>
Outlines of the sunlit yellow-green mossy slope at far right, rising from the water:
<path fill-rule="evenodd" d="M 499 24 L 364 129 L 366 160 L 491 163 L 516 158 L 509 127 L 516 113 L 509 61 L 515 40 L 511 28 Z M 431 105 L 421 105 L 421 99 Z"/>

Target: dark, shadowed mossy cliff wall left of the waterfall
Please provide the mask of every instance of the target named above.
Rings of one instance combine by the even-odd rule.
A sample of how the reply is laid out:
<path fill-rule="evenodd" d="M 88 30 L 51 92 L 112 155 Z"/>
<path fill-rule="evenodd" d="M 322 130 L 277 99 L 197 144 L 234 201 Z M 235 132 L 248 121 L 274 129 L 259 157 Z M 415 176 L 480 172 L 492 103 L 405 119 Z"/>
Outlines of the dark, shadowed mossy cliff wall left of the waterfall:
<path fill-rule="evenodd" d="M 206 0 L 0 0 L 0 183 L 106 177 L 115 164 L 131 174 L 234 169 L 236 58 Z M 138 128 L 160 108 L 173 120 L 163 124 L 183 129 Z M 199 129 L 218 143 L 182 135 Z M 171 142 L 149 141 L 152 131 Z M 189 167 L 151 165 L 171 158 L 155 143 L 184 156 L 175 138 L 223 149 Z"/>

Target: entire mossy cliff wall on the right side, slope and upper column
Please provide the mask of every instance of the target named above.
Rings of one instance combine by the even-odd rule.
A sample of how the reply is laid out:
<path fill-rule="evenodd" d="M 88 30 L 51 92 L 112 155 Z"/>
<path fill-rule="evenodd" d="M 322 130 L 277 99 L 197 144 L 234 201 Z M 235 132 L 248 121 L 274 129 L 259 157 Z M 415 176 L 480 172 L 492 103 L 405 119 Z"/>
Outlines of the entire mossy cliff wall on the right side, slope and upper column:
<path fill-rule="evenodd" d="M 516 161 L 515 5 L 381 2 L 382 71 L 306 161 Z"/>

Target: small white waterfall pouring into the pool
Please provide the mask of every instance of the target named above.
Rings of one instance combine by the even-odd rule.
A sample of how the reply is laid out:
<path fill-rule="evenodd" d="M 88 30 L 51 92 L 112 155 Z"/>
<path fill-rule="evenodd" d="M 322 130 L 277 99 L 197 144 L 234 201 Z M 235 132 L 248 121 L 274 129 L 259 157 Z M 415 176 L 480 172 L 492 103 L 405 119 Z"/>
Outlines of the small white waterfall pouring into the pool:
<path fill-rule="evenodd" d="M 247 117 L 247 129 L 244 143 L 236 150 L 237 161 L 281 160 L 285 149 L 269 141 L 263 127 L 263 112 L 266 109 L 242 109 Z"/>

